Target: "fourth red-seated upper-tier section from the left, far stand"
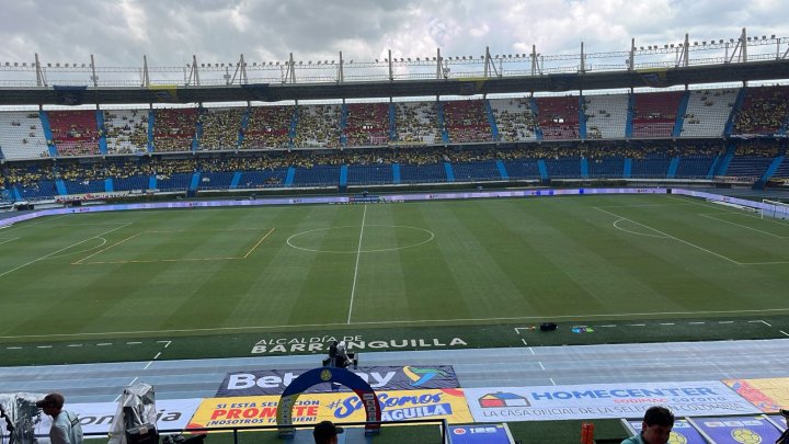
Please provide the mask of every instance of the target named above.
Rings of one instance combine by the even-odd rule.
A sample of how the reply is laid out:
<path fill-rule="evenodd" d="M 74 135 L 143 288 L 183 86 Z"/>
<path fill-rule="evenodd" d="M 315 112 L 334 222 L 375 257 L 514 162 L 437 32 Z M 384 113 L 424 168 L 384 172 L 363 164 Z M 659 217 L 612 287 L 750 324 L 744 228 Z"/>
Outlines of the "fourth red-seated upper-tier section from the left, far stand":
<path fill-rule="evenodd" d="M 350 147 L 386 145 L 389 141 L 389 105 L 348 104 L 343 136 Z"/>

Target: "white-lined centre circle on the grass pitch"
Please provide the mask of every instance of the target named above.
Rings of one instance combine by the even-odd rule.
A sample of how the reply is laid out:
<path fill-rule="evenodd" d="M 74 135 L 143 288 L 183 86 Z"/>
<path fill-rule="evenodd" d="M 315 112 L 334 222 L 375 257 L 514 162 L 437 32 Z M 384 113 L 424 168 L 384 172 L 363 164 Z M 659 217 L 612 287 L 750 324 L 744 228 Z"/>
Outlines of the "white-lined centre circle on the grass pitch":
<path fill-rule="evenodd" d="M 359 237 L 362 249 L 359 249 Z M 318 228 L 297 232 L 287 238 L 287 244 L 316 253 L 379 253 L 423 246 L 435 238 L 428 229 L 407 225 L 365 225 Z M 402 242 L 402 244 L 398 244 Z M 368 246 L 365 248 L 365 246 Z"/>

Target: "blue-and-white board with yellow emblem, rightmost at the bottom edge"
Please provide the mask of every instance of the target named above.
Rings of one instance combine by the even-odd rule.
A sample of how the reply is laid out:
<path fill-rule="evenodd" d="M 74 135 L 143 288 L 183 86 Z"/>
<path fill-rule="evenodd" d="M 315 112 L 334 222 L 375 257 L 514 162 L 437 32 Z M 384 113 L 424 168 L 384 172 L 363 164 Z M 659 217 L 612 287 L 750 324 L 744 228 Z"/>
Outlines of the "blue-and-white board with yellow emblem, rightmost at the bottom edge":
<path fill-rule="evenodd" d="M 696 418 L 694 424 L 713 443 L 775 443 L 780 431 L 764 418 Z"/>

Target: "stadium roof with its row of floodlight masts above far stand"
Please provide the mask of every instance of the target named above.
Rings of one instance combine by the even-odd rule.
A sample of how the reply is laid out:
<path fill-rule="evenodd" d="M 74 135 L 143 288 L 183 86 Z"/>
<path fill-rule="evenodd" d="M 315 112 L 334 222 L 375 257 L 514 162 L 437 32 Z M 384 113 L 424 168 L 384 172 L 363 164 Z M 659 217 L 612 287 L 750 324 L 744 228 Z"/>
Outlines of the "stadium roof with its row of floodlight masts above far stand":
<path fill-rule="evenodd" d="M 249 72 L 249 75 L 248 75 Z M 542 55 L 435 56 L 347 62 L 294 60 L 197 64 L 180 67 L 90 64 L 0 64 L 0 105 L 282 102 L 481 95 L 670 88 L 787 80 L 789 37 L 748 36 L 637 47 L 627 50 Z M 101 80 L 100 80 L 101 77 Z"/>

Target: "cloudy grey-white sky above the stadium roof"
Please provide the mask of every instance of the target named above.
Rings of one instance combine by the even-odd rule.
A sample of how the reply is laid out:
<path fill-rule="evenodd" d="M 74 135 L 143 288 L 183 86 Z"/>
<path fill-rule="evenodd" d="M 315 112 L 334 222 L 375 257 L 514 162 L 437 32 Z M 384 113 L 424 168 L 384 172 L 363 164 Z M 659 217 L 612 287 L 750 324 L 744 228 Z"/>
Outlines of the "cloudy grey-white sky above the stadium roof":
<path fill-rule="evenodd" d="M 0 64 L 139 67 L 627 50 L 750 35 L 789 37 L 787 0 L 14 0 L 0 14 Z"/>

